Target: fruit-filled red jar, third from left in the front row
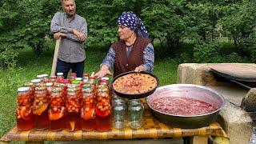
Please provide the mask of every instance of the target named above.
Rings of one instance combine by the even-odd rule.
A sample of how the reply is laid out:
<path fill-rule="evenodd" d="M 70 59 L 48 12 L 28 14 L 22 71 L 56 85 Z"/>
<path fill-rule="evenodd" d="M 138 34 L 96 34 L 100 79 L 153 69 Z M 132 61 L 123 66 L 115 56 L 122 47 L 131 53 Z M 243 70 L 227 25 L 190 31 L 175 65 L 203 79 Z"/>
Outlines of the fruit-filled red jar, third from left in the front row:
<path fill-rule="evenodd" d="M 48 116 L 50 119 L 50 130 L 62 130 L 66 127 L 65 122 L 65 98 L 62 95 L 62 89 L 59 87 L 53 88 L 50 92 L 50 109 Z"/>

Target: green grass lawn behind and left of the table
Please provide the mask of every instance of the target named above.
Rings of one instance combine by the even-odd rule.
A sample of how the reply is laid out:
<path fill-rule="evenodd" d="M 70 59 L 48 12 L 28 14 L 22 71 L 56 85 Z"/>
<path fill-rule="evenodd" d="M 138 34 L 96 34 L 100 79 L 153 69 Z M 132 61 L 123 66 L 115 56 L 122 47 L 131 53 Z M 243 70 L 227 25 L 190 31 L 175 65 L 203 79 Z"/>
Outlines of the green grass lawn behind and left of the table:
<path fill-rule="evenodd" d="M 54 51 L 44 52 L 42 56 L 34 56 L 32 50 L 18 50 L 16 68 L 0 70 L 0 136 L 2 137 L 15 125 L 14 110 L 17 106 L 16 90 L 24 82 L 30 82 L 37 74 L 50 74 Z M 104 50 L 86 50 L 86 73 L 91 74 L 99 70 L 102 58 L 106 56 Z M 156 58 L 154 74 L 160 81 L 160 86 L 176 82 L 178 64 L 171 58 Z"/>

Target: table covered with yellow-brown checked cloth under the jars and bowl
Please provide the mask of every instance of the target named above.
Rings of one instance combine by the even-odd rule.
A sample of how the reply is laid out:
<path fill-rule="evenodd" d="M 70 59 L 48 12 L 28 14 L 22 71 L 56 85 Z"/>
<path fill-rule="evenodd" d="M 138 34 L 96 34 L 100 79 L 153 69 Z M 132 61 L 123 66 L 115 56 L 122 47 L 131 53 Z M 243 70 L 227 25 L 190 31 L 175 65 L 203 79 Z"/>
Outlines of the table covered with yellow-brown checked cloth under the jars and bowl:
<path fill-rule="evenodd" d="M 181 129 L 166 126 L 165 124 L 158 122 L 150 115 L 150 111 L 145 106 L 145 118 L 144 127 L 138 130 L 132 130 L 126 127 L 124 130 L 112 129 L 107 132 L 98 131 L 82 131 L 75 132 L 62 131 L 18 131 L 16 126 L 11 129 L 7 134 L 1 138 L 1 142 L 10 141 L 26 141 L 26 142 L 43 142 L 43 141 L 80 141 L 80 140 L 92 140 L 92 139 L 159 139 L 159 138 L 184 138 L 191 137 L 190 143 L 204 144 L 207 143 L 209 136 L 227 138 L 227 135 L 222 127 L 213 122 L 210 126 L 205 126 L 198 129 Z"/>

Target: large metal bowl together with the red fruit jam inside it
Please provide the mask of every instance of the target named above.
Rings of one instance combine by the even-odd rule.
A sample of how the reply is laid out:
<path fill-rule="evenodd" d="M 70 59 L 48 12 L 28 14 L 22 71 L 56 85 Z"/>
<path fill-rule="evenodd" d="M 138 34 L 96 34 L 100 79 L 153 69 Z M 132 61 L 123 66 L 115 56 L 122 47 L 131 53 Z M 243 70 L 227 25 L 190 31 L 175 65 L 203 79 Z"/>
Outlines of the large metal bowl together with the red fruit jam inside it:
<path fill-rule="evenodd" d="M 217 119 L 225 100 L 206 86 L 174 84 L 158 87 L 146 102 L 159 122 L 178 128 L 199 128 Z"/>

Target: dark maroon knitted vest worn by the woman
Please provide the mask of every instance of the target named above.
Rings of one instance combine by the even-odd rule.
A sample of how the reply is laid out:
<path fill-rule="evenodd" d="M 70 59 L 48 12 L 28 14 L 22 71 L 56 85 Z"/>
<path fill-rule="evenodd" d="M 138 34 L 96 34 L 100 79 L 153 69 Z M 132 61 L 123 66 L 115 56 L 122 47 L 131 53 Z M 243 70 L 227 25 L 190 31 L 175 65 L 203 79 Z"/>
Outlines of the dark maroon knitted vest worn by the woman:
<path fill-rule="evenodd" d="M 149 38 L 137 37 L 129 56 L 126 55 L 126 43 L 122 40 L 115 42 L 112 47 L 115 51 L 114 77 L 118 74 L 134 70 L 143 63 L 143 51 L 150 43 Z"/>

